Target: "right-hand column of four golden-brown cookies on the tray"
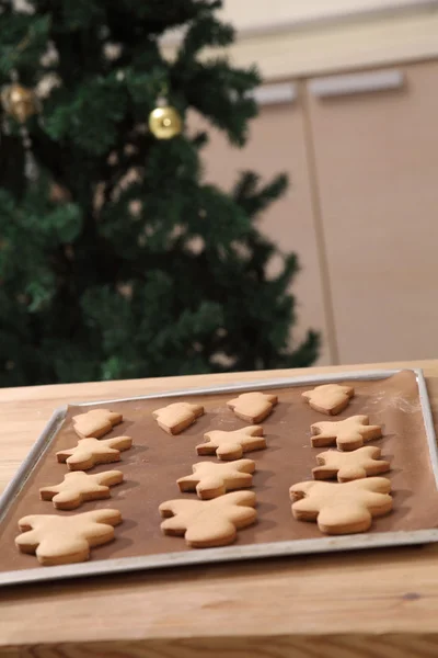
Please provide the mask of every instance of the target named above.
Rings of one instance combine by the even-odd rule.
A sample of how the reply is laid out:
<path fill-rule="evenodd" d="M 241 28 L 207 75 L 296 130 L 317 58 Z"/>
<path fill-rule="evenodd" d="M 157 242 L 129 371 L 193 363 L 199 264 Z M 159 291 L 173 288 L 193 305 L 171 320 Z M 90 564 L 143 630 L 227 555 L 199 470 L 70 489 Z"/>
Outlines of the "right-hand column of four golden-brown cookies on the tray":
<path fill-rule="evenodd" d="M 336 416 L 349 404 L 355 392 L 350 386 L 330 384 L 302 394 L 315 410 Z M 384 477 L 389 462 L 380 460 L 381 451 L 364 443 L 382 436 L 380 426 L 369 424 L 367 416 L 353 416 L 341 421 L 311 426 L 313 447 L 336 445 L 316 455 L 312 469 L 315 480 L 337 478 L 338 483 L 303 481 L 290 487 L 292 514 L 300 521 L 316 521 L 326 534 L 365 532 L 373 517 L 392 510 L 391 483 Z"/>

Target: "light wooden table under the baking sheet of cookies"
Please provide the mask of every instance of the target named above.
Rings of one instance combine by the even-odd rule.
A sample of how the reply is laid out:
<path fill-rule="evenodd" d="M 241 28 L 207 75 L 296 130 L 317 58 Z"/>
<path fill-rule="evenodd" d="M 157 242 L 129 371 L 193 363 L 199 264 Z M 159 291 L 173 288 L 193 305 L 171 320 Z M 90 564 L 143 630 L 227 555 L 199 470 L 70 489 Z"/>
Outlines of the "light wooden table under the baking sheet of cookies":
<path fill-rule="evenodd" d="M 438 419 L 438 361 L 423 367 Z M 351 366 L 0 390 L 0 487 L 66 401 Z M 0 590 L 0 656 L 402 658 L 438 655 L 438 546 Z"/>

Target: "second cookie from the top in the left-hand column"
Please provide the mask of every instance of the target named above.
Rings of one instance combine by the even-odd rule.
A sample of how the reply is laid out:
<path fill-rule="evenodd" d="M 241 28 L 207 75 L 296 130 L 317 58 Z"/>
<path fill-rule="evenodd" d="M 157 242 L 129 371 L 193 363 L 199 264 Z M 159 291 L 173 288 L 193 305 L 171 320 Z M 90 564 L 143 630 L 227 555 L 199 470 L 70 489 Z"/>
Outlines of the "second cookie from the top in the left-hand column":
<path fill-rule="evenodd" d="M 111 464 L 120 461 L 120 452 L 132 445 L 130 436 L 114 439 L 81 439 L 76 447 L 56 453 L 58 462 L 67 462 L 70 470 L 89 470 L 96 464 Z"/>

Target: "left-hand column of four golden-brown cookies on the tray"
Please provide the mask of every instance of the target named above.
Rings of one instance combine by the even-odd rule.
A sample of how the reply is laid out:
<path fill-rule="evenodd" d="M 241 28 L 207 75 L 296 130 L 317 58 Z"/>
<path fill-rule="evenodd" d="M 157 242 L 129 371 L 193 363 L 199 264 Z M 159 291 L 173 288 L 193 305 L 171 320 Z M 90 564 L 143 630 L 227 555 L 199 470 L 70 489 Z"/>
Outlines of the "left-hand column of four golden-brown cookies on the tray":
<path fill-rule="evenodd" d="M 57 461 L 67 463 L 69 473 L 58 485 L 39 489 L 42 500 L 51 500 L 58 510 L 72 510 L 89 500 L 111 497 L 110 487 L 123 481 L 120 470 L 88 474 L 97 464 L 120 461 L 120 452 L 129 450 L 130 436 L 100 438 L 123 421 L 122 413 L 95 409 L 73 417 L 77 446 L 58 451 Z M 19 521 L 21 534 L 15 545 L 22 553 L 36 554 L 43 566 L 78 563 L 89 559 L 90 548 L 114 538 L 114 526 L 122 522 L 116 509 L 100 509 L 65 517 L 31 514 Z"/>

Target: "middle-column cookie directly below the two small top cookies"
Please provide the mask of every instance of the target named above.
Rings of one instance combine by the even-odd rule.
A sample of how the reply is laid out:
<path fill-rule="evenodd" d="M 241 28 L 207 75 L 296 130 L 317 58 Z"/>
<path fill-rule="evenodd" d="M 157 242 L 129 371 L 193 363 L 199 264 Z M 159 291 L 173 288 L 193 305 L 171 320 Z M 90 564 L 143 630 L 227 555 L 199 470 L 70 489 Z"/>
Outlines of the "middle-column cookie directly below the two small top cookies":
<path fill-rule="evenodd" d="M 250 426 L 241 430 L 227 432 L 214 430 L 204 434 L 205 443 L 196 446 L 198 455 L 216 455 L 219 460 L 239 460 L 243 453 L 266 447 L 261 426 Z"/>

